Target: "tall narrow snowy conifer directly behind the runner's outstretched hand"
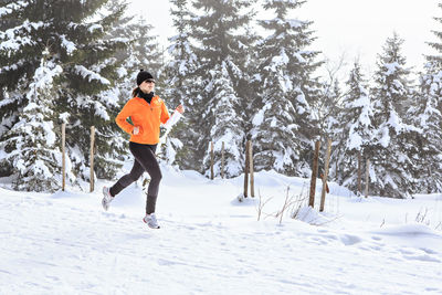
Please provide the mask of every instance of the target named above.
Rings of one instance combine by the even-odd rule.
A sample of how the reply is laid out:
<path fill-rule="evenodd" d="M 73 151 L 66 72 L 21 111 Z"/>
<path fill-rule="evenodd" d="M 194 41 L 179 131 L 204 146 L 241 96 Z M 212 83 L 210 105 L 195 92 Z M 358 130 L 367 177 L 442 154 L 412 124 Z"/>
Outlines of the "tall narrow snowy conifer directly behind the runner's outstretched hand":
<path fill-rule="evenodd" d="M 165 91 L 168 105 L 186 106 L 186 115 L 173 127 L 167 139 L 165 154 L 169 162 L 179 164 L 182 169 L 198 170 L 202 166 L 203 155 L 196 152 L 193 145 L 198 143 L 199 127 L 199 78 L 194 72 L 198 69 L 198 57 L 189 38 L 192 13 L 189 11 L 188 0 L 171 0 L 173 27 L 178 34 L 170 38 L 168 52 L 171 61 L 167 64 Z"/>

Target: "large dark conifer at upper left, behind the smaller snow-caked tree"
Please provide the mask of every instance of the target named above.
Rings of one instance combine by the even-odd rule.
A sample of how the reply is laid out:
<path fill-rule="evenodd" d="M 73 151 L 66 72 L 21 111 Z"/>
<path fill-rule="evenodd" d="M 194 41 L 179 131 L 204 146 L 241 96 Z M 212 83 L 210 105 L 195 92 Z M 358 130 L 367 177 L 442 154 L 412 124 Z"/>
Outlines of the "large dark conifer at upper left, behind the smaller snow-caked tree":
<path fill-rule="evenodd" d="M 60 124 L 60 114 L 70 114 L 67 149 L 75 171 L 86 179 L 91 126 L 97 129 L 96 172 L 99 177 L 115 173 L 119 166 L 115 158 L 123 148 L 123 140 L 115 134 L 116 127 L 108 122 L 119 108 L 113 87 L 113 81 L 118 77 L 114 54 L 126 46 L 127 40 L 108 39 L 107 32 L 123 15 L 125 6 L 116 13 L 98 15 L 106 2 L 19 1 L 2 17 L 22 23 L 0 33 L 0 82 L 9 92 L 30 86 L 40 67 L 42 49 L 48 49 L 48 61 L 62 69 L 51 104 L 55 112 L 53 124 Z M 4 6 L 0 7 L 2 9 Z M 9 93 L 9 97 L 14 101 L 10 104 L 14 105 L 14 112 L 20 113 L 28 105 L 29 98 L 23 93 Z M 3 136 L 9 136 L 8 133 Z"/>

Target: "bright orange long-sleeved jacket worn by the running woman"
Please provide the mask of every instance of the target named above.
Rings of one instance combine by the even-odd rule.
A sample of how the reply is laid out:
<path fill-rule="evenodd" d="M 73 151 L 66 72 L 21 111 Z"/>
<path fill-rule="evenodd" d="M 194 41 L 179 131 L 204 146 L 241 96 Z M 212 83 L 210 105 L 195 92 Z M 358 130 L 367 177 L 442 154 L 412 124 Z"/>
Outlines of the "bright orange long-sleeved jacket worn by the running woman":
<path fill-rule="evenodd" d="M 134 125 L 126 119 L 130 117 Z M 150 104 L 140 97 L 134 97 L 126 103 L 115 122 L 126 133 L 130 134 L 130 141 L 144 145 L 159 143 L 159 125 L 169 119 L 169 112 L 162 99 L 154 96 Z M 139 126 L 139 133 L 133 135 L 135 126 Z"/>

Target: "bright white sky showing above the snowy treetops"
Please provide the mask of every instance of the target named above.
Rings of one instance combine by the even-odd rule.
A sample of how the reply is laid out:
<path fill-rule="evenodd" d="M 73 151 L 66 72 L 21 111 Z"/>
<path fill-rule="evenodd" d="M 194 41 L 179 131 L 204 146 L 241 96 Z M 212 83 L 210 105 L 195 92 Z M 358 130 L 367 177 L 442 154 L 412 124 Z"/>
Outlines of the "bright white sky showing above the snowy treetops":
<path fill-rule="evenodd" d="M 143 13 L 161 44 L 175 34 L 167 0 L 128 0 L 133 13 Z M 423 54 L 434 53 L 425 42 L 438 41 L 431 30 L 442 31 L 433 17 L 442 17 L 440 0 L 307 0 L 290 18 L 314 21 L 314 50 L 332 61 L 344 53 L 347 63 L 359 56 L 366 73 L 376 70 L 376 56 L 396 31 L 404 39 L 402 53 L 408 65 L 420 70 Z"/>

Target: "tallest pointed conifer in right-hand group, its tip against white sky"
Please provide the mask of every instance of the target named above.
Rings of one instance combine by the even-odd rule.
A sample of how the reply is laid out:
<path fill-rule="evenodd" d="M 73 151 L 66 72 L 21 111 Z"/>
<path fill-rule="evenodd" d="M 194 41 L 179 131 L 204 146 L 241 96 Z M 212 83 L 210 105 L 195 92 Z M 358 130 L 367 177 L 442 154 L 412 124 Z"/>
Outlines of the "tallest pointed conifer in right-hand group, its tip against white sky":
<path fill-rule="evenodd" d="M 378 56 L 372 88 L 375 145 L 366 154 L 371 161 L 370 193 L 393 198 L 412 193 L 415 182 L 412 138 L 419 131 L 406 120 L 412 92 L 410 70 L 400 51 L 402 43 L 394 33 Z"/>

